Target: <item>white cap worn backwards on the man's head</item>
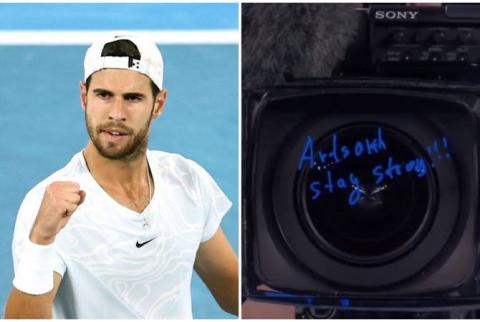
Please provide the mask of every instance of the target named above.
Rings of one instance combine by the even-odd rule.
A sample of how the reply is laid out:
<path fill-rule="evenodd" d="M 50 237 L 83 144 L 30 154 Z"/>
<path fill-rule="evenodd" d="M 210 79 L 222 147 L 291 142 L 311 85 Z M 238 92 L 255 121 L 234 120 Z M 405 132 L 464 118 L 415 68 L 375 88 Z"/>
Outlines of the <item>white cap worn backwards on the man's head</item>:
<path fill-rule="evenodd" d="M 129 40 L 135 44 L 140 53 L 140 59 L 134 59 L 128 56 L 102 56 L 102 51 L 106 44 L 122 39 Z M 148 76 L 159 89 L 163 89 L 162 54 L 153 41 L 138 35 L 113 34 L 95 41 L 87 49 L 87 53 L 85 54 L 84 68 L 84 81 L 86 81 L 90 75 L 101 69 L 119 68 L 142 73 Z"/>

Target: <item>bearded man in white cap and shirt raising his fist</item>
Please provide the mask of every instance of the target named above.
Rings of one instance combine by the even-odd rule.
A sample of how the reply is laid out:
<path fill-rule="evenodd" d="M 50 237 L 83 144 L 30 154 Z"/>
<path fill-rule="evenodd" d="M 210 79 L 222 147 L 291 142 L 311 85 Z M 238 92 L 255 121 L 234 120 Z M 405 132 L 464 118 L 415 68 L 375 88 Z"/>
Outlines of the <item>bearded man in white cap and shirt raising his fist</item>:
<path fill-rule="evenodd" d="M 163 60 L 135 35 L 94 43 L 80 98 L 90 140 L 25 197 L 7 318 L 191 318 L 192 269 L 237 314 L 237 259 L 220 228 L 231 202 L 210 175 L 147 150 Z"/>

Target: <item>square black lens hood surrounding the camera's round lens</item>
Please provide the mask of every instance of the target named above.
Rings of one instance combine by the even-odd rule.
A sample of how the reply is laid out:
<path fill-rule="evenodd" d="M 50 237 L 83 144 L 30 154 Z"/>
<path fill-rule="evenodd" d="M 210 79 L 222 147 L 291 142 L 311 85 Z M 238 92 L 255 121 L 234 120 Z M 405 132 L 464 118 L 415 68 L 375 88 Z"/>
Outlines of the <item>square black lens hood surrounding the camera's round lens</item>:
<path fill-rule="evenodd" d="M 316 307 L 477 307 L 479 93 L 473 84 L 381 78 L 298 81 L 244 92 L 244 296 Z M 422 208 L 428 214 L 417 223 L 416 239 L 407 238 L 408 247 L 396 254 L 343 256 L 319 233 L 329 222 L 315 227 L 305 214 L 306 175 L 299 169 L 305 139 L 320 142 L 349 126 L 381 127 L 385 140 L 398 132 L 417 151 L 448 138 L 449 159 L 428 167 L 422 188 L 428 190 Z M 438 157 L 425 155 L 429 162 Z M 399 202 L 408 198 L 398 194 Z M 327 205 L 339 216 L 351 212 L 340 203 Z M 381 239 L 372 245 L 382 245 Z"/>

